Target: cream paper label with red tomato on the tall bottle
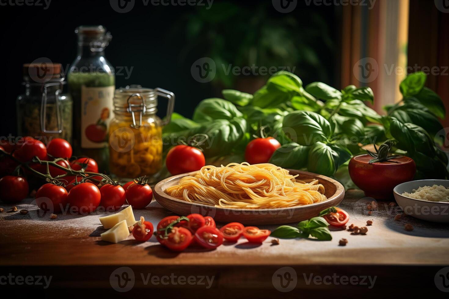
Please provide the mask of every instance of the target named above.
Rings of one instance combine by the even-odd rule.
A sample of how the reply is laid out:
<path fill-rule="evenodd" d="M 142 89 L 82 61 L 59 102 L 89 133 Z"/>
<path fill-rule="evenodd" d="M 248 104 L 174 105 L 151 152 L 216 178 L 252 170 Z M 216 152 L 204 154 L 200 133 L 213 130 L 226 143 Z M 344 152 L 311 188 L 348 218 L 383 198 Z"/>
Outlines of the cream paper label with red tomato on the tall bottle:
<path fill-rule="evenodd" d="M 81 87 L 81 147 L 107 147 L 115 87 Z"/>

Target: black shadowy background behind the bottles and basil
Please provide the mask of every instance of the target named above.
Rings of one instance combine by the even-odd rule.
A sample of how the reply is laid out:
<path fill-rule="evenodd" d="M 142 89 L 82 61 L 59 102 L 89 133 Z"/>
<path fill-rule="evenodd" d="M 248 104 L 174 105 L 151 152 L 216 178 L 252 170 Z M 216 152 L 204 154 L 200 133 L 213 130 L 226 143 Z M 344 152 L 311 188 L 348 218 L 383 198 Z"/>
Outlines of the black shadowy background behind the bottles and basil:
<path fill-rule="evenodd" d="M 199 83 L 190 73 L 195 60 L 213 56 L 214 51 L 216 54 L 218 51 L 228 64 L 248 65 L 242 59 L 246 49 L 243 47 L 238 55 L 234 50 L 245 43 L 251 46 L 254 40 L 259 40 L 258 34 L 266 38 L 265 33 L 258 32 L 262 25 L 268 29 L 289 25 L 283 35 L 284 40 L 290 40 L 292 45 L 304 51 L 287 53 L 287 56 L 295 54 L 299 57 L 293 62 L 273 55 L 273 60 L 257 61 L 258 66 L 296 66 L 295 73 L 303 79 L 304 85 L 323 81 L 339 86 L 336 74 L 339 74 L 340 8 L 307 6 L 305 1 L 298 1 L 292 13 L 279 13 L 271 2 L 215 0 L 207 11 L 206 6 L 144 6 L 142 0 L 136 0 L 128 13 L 115 12 L 109 0 L 52 0 L 46 10 L 43 6 L 0 6 L 0 51 L 4 66 L 2 82 L 5 84 L 5 113 L 0 118 L 0 136 L 17 134 L 15 101 L 24 91 L 22 64 L 48 57 L 53 62 L 62 63 L 66 70 L 76 56 L 74 30 L 79 25 L 105 26 L 113 36 L 106 48 L 108 61 L 116 71 L 119 66 L 133 67 L 130 78 L 125 79 L 124 72 L 116 76 L 116 87 L 141 84 L 172 91 L 176 95 L 175 111 L 186 117 L 191 117 L 199 101 L 220 96 L 220 90 L 225 87 L 252 92 L 263 84 L 266 78 L 242 78 L 242 75 Z M 256 13 L 263 16 L 263 22 L 259 19 L 259 23 L 255 23 L 253 17 Z M 192 24 L 198 16 L 207 22 L 197 24 L 202 28 L 195 36 Z M 282 51 L 282 40 L 282 44 L 277 44 L 279 34 L 270 34 L 265 42 L 276 44 Z M 270 52 L 267 56 L 271 57 Z M 161 117 L 165 113 L 163 102 L 160 101 L 158 113 Z"/>

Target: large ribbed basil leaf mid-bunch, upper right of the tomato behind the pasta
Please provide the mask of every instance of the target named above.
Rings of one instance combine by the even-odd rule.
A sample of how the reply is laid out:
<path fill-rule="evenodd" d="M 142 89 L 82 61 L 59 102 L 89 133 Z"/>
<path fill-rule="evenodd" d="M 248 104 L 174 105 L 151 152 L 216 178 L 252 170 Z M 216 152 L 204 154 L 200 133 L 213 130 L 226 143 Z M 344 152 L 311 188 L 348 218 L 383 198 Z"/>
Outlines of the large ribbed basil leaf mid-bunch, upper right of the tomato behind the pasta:
<path fill-rule="evenodd" d="M 291 140 L 305 146 L 317 141 L 327 141 L 332 134 L 329 121 L 309 111 L 294 111 L 287 114 L 282 126 L 286 134 L 291 133 L 289 130 L 294 130 L 296 136 L 291 136 Z"/>

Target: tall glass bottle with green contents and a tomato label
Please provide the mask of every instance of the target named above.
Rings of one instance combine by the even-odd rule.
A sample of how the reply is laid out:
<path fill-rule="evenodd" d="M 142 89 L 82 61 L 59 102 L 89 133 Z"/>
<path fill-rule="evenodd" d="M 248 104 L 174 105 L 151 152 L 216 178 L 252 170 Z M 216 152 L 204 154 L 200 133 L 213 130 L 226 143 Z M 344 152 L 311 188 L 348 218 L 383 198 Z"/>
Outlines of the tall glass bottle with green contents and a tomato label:
<path fill-rule="evenodd" d="M 73 147 L 75 155 L 108 168 L 108 125 L 115 90 L 114 68 L 105 58 L 112 36 L 103 26 L 79 26 L 78 55 L 70 65 L 67 81 L 73 99 Z"/>

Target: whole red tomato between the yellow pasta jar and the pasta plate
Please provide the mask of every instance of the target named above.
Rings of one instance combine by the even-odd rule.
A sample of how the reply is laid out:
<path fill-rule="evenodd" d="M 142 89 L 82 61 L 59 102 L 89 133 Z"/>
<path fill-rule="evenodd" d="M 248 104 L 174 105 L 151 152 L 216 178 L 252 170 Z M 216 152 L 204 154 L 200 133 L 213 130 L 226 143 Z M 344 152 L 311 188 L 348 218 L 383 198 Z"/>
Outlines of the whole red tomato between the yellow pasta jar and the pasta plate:
<path fill-rule="evenodd" d="M 200 170 L 206 165 L 206 159 L 202 152 L 195 147 L 188 145 L 176 145 L 172 147 L 167 153 L 167 160 L 165 162 L 168 171 L 172 175 L 192 172 Z"/>

